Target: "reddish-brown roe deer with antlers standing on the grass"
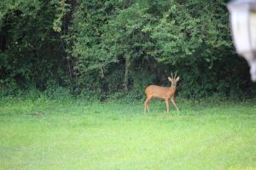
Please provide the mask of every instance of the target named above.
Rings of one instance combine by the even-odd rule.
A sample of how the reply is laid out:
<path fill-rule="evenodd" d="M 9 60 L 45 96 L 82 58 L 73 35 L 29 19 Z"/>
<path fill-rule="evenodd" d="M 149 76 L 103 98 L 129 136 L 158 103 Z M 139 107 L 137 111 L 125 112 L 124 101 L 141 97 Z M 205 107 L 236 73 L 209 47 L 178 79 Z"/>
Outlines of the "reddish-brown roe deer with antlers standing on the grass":
<path fill-rule="evenodd" d="M 149 112 L 148 104 L 150 102 L 150 99 L 153 99 L 153 98 L 166 100 L 167 113 L 169 113 L 169 99 L 171 99 L 172 104 L 175 106 L 176 110 L 178 111 L 177 105 L 174 99 L 174 94 L 176 92 L 176 84 L 177 84 L 177 81 L 179 81 L 179 77 L 176 77 L 176 74 L 177 73 L 175 73 L 175 76 L 172 78 L 168 77 L 168 80 L 172 82 L 170 88 L 160 87 L 156 85 L 150 85 L 146 88 L 145 94 L 147 95 L 147 99 L 145 100 L 145 103 L 144 103 L 144 112 L 147 112 L 147 111 Z"/>

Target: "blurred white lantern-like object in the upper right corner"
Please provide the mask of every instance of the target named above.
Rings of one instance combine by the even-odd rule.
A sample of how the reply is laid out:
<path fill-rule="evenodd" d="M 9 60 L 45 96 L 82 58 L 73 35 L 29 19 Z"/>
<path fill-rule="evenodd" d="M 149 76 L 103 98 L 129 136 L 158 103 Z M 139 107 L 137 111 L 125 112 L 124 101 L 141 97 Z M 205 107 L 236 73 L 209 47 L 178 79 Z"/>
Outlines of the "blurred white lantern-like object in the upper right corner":
<path fill-rule="evenodd" d="M 236 51 L 247 59 L 256 82 L 256 0 L 233 0 L 228 9 Z"/>

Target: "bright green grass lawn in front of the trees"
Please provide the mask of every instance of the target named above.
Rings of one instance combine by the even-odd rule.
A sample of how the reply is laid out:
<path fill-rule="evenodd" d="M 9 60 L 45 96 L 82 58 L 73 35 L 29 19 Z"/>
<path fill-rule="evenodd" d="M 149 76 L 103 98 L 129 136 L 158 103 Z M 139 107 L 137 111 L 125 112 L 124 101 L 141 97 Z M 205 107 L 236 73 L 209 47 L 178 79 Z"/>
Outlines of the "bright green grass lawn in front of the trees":
<path fill-rule="evenodd" d="M 256 169 L 256 103 L 1 99 L 0 169 Z"/>

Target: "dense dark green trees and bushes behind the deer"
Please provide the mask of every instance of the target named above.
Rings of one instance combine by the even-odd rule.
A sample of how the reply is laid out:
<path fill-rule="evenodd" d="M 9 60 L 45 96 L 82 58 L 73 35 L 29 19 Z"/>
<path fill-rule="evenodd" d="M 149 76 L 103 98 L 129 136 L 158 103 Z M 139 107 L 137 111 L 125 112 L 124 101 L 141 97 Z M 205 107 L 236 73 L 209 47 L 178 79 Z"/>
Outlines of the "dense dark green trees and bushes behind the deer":
<path fill-rule="evenodd" d="M 169 85 L 166 77 L 178 71 L 183 97 L 253 97 L 226 3 L 2 0 L 1 93 L 62 87 L 98 99 L 140 99 L 148 84 Z"/>

